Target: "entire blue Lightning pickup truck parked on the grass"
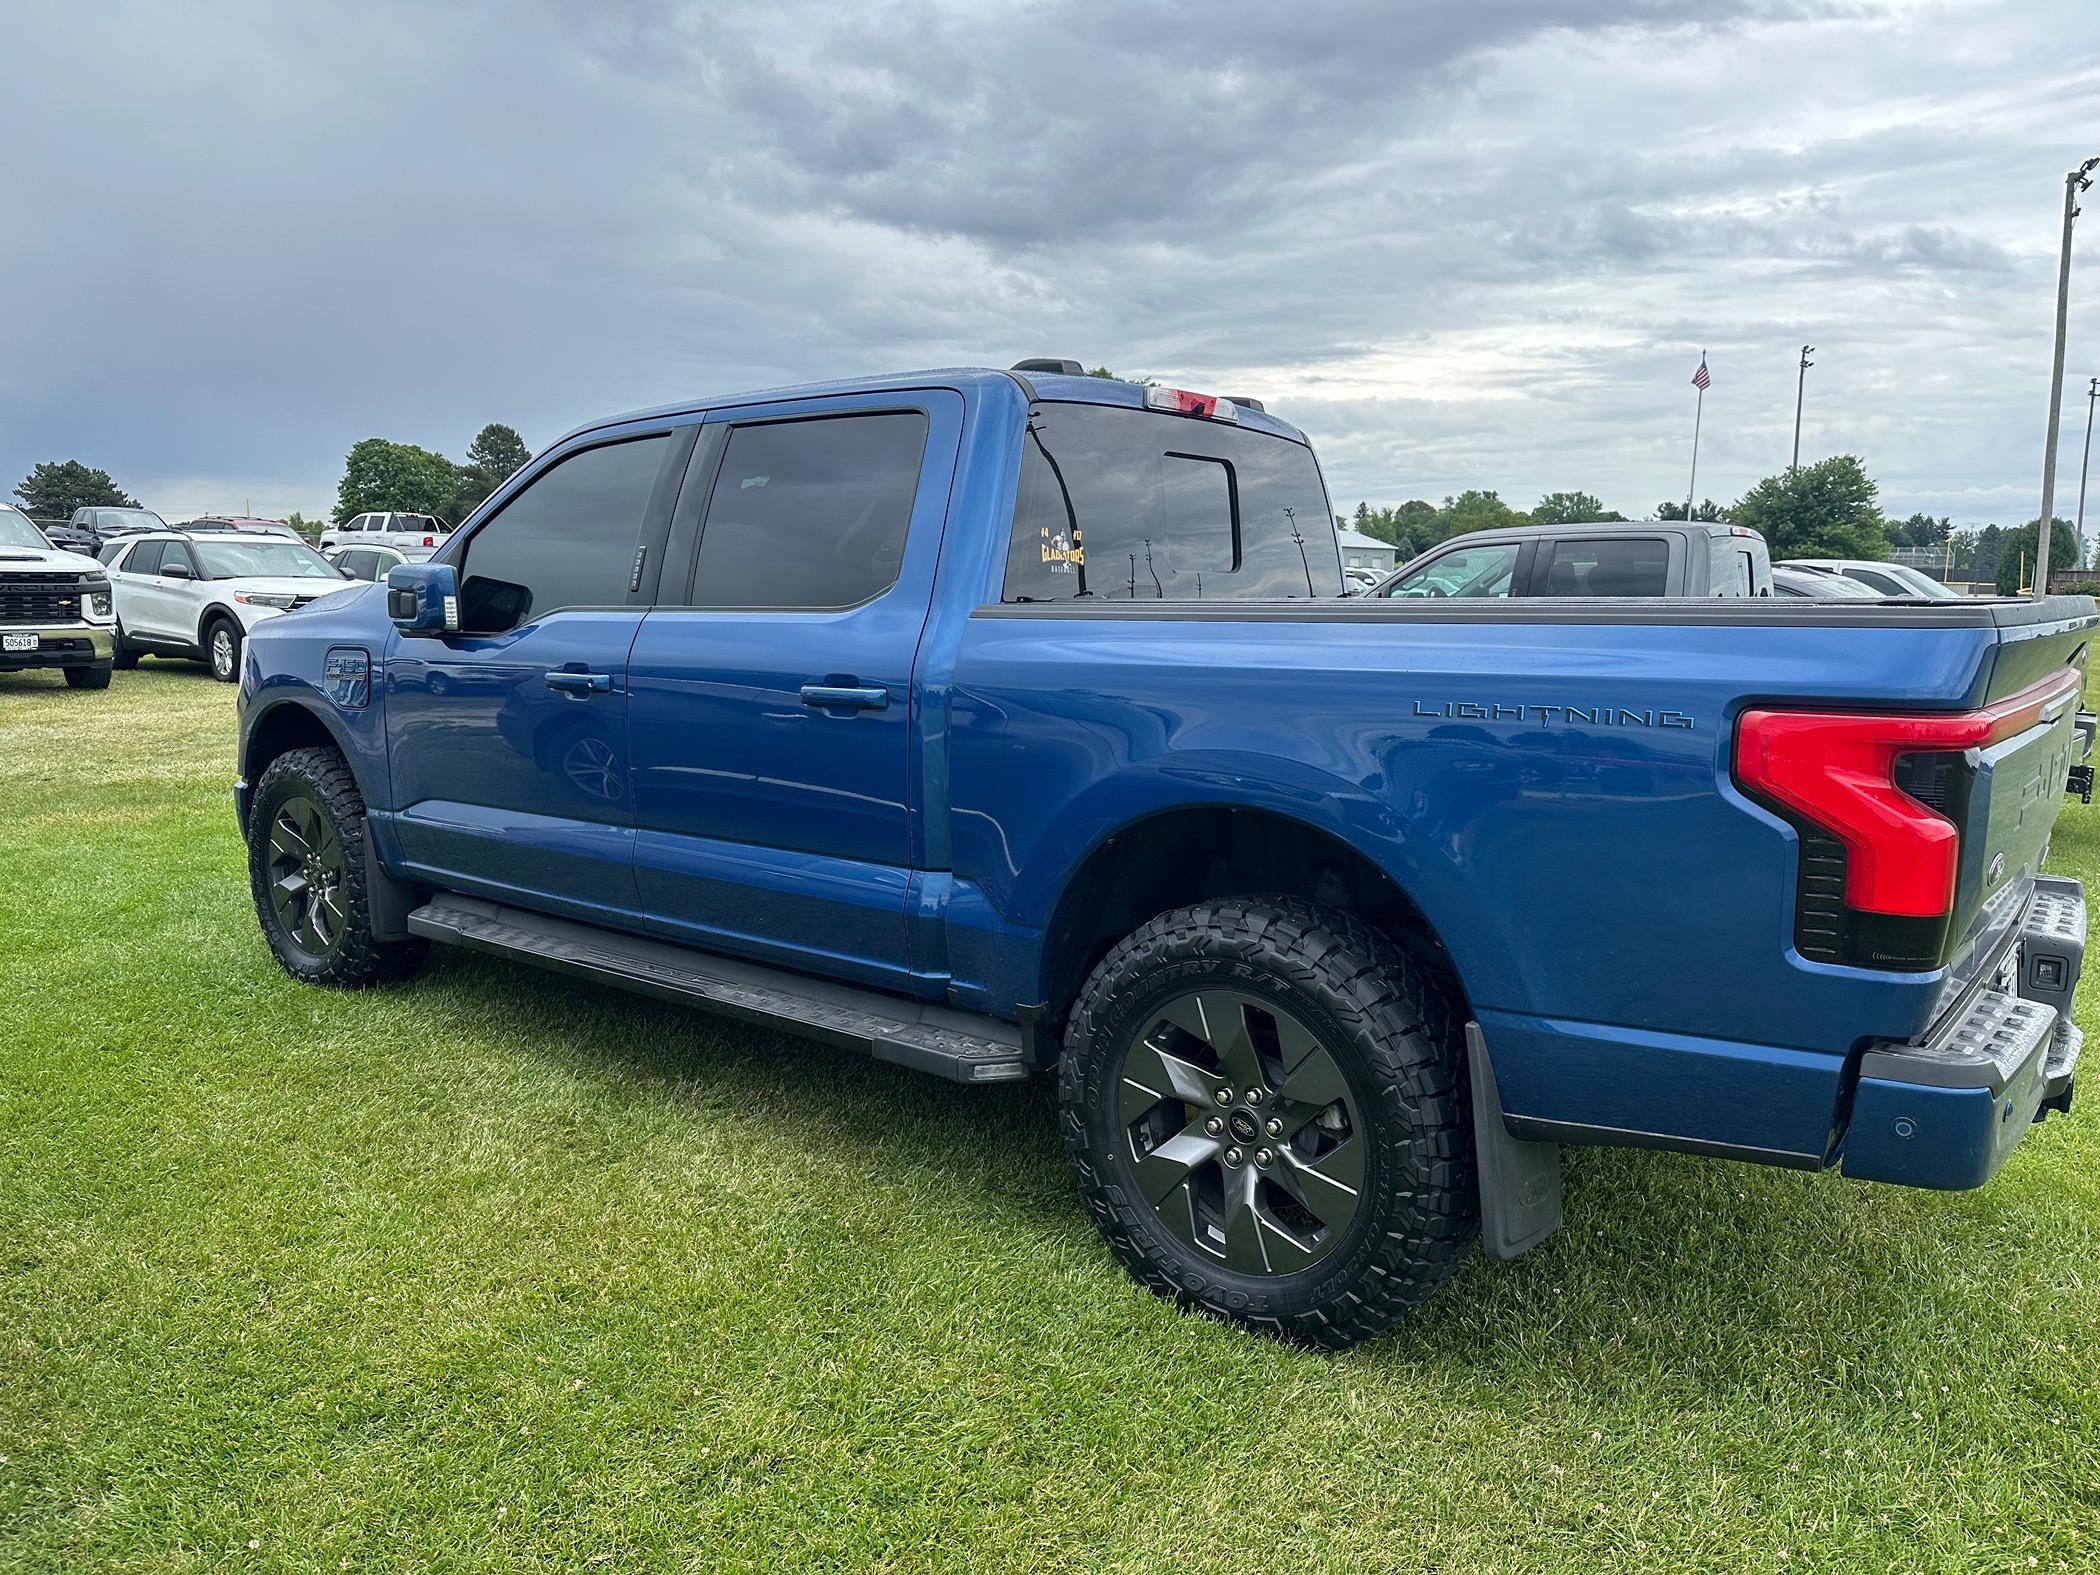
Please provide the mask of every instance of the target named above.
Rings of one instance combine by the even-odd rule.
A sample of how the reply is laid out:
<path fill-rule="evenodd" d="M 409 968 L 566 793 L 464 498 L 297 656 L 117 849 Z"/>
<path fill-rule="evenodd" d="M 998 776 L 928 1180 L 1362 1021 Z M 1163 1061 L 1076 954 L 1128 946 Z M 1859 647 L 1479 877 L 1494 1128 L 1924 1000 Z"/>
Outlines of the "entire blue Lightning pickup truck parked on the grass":
<path fill-rule="evenodd" d="M 1075 372 L 584 426 L 258 624 L 277 960 L 1054 1073 L 1115 1256 L 1325 1346 L 1562 1142 L 1976 1186 L 2068 1109 L 2090 598 L 1350 598 L 1302 433 Z"/>

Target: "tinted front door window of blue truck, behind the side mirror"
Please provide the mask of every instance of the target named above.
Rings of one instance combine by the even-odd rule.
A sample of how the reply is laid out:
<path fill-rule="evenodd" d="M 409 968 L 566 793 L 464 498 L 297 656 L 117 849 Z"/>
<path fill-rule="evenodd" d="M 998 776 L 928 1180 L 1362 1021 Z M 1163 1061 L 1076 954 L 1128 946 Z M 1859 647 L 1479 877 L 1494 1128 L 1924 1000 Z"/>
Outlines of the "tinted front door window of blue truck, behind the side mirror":
<path fill-rule="evenodd" d="M 622 607 L 668 435 L 571 454 L 475 531 L 460 628 L 498 634 L 563 607 Z"/>

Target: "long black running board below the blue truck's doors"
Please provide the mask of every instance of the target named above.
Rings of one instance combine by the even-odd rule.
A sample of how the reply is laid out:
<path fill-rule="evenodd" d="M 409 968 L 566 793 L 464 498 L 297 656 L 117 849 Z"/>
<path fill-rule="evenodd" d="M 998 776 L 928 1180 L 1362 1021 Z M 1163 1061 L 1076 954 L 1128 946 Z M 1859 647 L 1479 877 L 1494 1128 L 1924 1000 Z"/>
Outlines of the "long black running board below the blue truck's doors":
<path fill-rule="evenodd" d="M 1016 1023 L 932 1002 L 811 979 L 477 897 L 437 897 L 407 916 L 407 930 L 861 1050 L 876 1060 L 958 1084 L 1004 1084 L 1029 1075 Z"/>

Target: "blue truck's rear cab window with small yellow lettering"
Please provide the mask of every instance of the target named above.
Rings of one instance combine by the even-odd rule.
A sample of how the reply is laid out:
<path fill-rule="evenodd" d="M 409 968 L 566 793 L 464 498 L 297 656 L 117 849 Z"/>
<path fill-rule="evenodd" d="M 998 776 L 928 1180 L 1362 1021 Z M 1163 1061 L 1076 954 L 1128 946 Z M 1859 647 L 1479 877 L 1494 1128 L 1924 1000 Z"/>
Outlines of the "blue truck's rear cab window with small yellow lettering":
<path fill-rule="evenodd" d="M 1006 601 L 1340 596 L 1312 449 L 1119 405 L 1029 416 Z"/>

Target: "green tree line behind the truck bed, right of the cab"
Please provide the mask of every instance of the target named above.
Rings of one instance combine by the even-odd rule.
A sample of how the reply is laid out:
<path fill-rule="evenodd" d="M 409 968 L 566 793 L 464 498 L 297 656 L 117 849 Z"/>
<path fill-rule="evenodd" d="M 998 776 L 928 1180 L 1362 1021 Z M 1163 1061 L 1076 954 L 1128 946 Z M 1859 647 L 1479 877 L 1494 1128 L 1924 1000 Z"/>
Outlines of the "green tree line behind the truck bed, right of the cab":
<path fill-rule="evenodd" d="M 1684 519 L 1680 500 L 1659 502 L 1646 519 Z M 1995 582 L 2012 592 L 2033 580 L 2037 521 L 2024 525 L 1982 525 L 1955 529 L 1947 517 L 1882 514 L 1882 489 L 1854 454 L 1835 454 L 1798 470 L 1766 477 L 1732 504 L 1705 498 L 1690 506 L 1695 521 L 1728 521 L 1758 531 L 1774 559 L 1886 559 L 1894 548 L 1932 552 L 1932 569 L 1942 580 Z M 1497 531 L 1518 525 L 1588 525 L 1623 521 L 1592 491 L 1550 491 L 1529 510 L 1512 508 L 1495 491 L 1468 489 L 1443 504 L 1409 498 L 1405 504 L 1373 508 L 1357 504 L 1354 514 L 1336 514 L 1336 525 L 1388 542 L 1405 563 L 1438 542 L 1468 531 Z M 2056 519 L 2050 531 L 2050 571 L 2085 567 L 2071 521 Z"/>

